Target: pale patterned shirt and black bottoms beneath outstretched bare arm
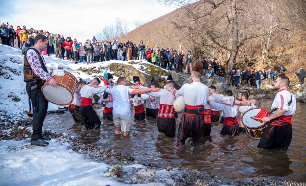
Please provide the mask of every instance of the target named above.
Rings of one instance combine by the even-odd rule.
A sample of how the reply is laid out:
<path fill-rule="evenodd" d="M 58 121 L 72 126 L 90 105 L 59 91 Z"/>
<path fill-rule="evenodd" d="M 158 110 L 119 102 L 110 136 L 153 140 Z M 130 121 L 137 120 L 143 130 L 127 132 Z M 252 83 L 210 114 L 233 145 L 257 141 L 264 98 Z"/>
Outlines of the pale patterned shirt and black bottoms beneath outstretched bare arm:
<path fill-rule="evenodd" d="M 148 94 L 141 94 L 141 98 L 146 100 L 145 107 L 146 107 L 146 116 L 152 116 L 154 119 L 157 119 L 158 109 L 159 109 L 159 102 L 160 98 Z"/>

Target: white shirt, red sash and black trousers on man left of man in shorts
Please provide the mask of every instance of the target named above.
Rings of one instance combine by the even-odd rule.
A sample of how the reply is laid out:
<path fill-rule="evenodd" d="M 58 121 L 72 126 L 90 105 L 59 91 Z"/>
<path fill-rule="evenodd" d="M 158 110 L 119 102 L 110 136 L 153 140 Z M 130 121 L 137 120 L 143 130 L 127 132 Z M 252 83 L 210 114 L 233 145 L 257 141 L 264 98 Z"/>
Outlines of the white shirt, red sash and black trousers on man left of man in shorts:
<path fill-rule="evenodd" d="M 101 120 L 97 115 L 96 111 L 92 108 L 93 95 L 103 93 L 107 86 L 99 88 L 93 88 L 89 85 L 85 85 L 81 90 L 82 100 L 80 105 L 80 112 L 84 119 L 86 129 L 98 129 L 101 125 Z"/>

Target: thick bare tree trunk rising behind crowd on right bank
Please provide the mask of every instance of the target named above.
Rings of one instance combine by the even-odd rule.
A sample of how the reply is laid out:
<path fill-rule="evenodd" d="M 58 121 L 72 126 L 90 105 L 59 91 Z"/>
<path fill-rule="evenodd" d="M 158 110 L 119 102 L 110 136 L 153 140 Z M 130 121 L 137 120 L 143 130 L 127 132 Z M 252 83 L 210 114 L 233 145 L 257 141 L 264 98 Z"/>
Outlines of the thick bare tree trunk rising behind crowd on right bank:
<path fill-rule="evenodd" d="M 236 63 L 236 56 L 238 52 L 238 23 L 237 23 L 237 0 L 230 0 L 230 8 L 231 8 L 231 23 L 232 23 L 232 49 L 227 61 L 227 72 L 230 72 L 233 64 Z"/>

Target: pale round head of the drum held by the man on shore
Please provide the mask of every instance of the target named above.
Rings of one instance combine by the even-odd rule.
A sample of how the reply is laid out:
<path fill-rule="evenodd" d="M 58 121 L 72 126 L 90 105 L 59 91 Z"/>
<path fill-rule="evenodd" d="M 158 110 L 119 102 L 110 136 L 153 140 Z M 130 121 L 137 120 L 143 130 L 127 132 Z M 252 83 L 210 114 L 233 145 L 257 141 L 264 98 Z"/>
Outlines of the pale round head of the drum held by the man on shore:
<path fill-rule="evenodd" d="M 73 95 L 62 85 L 57 85 L 56 88 L 51 85 L 44 85 L 42 92 L 45 98 L 56 105 L 68 105 L 73 101 Z"/>

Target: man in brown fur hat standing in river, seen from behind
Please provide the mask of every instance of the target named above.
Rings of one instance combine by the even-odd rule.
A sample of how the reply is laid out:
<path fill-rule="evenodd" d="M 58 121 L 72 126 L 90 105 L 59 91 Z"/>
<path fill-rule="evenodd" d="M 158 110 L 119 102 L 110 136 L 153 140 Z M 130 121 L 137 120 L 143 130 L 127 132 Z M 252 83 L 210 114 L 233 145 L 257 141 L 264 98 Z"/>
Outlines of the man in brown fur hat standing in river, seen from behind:
<path fill-rule="evenodd" d="M 193 137 L 194 145 L 201 143 L 204 129 L 204 106 L 207 104 L 209 90 L 206 85 L 200 82 L 203 73 L 203 64 L 196 62 L 191 72 L 193 82 L 184 84 L 175 96 L 184 96 L 186 104 L 185 112 L 177 134 L 177 146 L 185 144 L 185 140 Z"/>

